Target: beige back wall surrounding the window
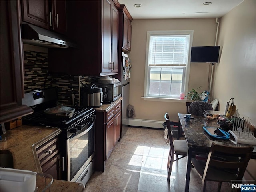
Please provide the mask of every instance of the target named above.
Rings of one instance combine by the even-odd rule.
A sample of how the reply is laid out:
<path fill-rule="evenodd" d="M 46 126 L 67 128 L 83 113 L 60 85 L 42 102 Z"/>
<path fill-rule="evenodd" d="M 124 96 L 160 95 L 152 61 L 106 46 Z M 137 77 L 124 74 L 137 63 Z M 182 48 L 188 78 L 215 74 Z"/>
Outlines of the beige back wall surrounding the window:
<path fill-rule="evenodd" d="M 132 51 L 129 53 L 132 71 L 130 80 L 130 104 L 134 106 L 137 119 L 163 120 L 169 113 L 171 120 L 178 120 L 178 112 L 186 112 L 186 104 L 180 102 L 145 101 L 144 71 L 146 58 L 146 35 L 150 30 L 194 30 L 193 46 L 213 46 L 217 24 L 215 18 L 207 19 L 151 19 L 132 21 Z M 211 66 L 210 66 L 211 67 Z M 211 71 L 211 70 L 210 70 Z M 192 63 L 188 90 L 208 88 L 208 64 Z"/>

